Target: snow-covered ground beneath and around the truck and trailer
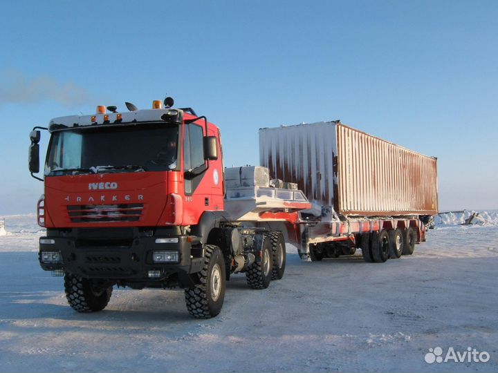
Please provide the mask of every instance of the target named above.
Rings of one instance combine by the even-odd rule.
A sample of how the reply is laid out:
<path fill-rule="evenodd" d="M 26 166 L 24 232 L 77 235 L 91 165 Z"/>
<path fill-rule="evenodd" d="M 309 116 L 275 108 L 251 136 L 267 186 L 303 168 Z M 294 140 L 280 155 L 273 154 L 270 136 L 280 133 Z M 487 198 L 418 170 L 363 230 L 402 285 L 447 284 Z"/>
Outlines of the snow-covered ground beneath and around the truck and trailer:
<path fill-rule="evenodd" d="M 498 212 L 459 225 L 469 214 L 438 218 L 413 256 L 384 264 L 301 262 L 289 247 L 282 280 L 257 291 L 234 276 L 207 321 L 182 291 L 115 289 L 103 312 L 73 312 L 39 268 L 35 216 L 6 216 L 0 372 L 496 372 Z M 434 347 L 490 361 L 430 365 Z"/>

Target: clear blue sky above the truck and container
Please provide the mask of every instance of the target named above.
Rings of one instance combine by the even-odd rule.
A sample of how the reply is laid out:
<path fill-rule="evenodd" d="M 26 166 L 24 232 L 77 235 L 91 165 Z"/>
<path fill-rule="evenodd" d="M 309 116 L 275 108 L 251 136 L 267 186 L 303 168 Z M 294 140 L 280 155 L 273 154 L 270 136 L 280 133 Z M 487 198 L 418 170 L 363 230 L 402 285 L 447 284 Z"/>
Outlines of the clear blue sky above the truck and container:
<path fill-rule="evenodd" d="M 0 21 L 0 214 L 35 211 L 28 133 L 172 95 L 221 127 L 341 119 L 439 158 L 440 209 L 498 209 L 496 1 L 20 1 Z M 48 136 L 44 136 L 47 140 Z"/>

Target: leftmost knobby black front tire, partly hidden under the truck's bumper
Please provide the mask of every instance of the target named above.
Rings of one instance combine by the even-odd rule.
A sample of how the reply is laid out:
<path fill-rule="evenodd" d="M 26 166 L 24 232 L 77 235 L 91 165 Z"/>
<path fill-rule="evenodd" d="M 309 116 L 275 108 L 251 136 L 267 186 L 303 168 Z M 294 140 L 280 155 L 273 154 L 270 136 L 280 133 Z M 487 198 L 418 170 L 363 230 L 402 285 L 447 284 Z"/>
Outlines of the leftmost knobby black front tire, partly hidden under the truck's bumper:
<path fill-rule="evenodd" d="M 102 311 L 109 303 L 112 286 L 99 287 L 94 280 L 66 274 L 64 291 L 69 305 L 77 312 Z"/>

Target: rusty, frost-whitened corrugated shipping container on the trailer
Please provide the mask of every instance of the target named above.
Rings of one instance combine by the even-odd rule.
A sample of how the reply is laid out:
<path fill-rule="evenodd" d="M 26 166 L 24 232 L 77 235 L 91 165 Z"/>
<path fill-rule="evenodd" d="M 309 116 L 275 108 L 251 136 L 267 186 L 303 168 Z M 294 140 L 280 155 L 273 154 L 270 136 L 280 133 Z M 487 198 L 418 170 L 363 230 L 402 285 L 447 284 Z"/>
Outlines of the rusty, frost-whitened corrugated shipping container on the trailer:
<path fill-rule="evenodd" d="M 340 122 L 259 130 L 261 166 L 344 216 L 438 212 L 437 160 Z"/>

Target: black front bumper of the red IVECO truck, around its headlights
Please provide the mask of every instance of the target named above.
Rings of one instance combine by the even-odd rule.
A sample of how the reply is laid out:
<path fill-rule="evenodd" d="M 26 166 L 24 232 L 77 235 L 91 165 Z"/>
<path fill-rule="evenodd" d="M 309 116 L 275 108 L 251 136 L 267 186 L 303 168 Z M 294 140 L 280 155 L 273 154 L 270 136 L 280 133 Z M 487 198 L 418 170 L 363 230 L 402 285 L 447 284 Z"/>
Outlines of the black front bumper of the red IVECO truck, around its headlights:
<path fill-rule="evenodd" d="M 156 238 L 178 238 L 174 243 L 156 243 Z M 53 243 L 42 243 L 47 242 Z M 167 280 L 172 274 L 185 275 L 201 271 L 203 253 L 192 248 L 187 236 L 134 237 L 129 242 L 88 241 L 71 235 L 49 234 L 41 237 L 39 262 L 45 271 L 64 272 L 84 278 L 109 280 Z M 62 262 L 43 262 L 44 251 L 60 252 Z M 178 262 L 155 263 L 153 251 L 178 251 Z M 149 277 L 149 271 L 160 276 Z"/>

